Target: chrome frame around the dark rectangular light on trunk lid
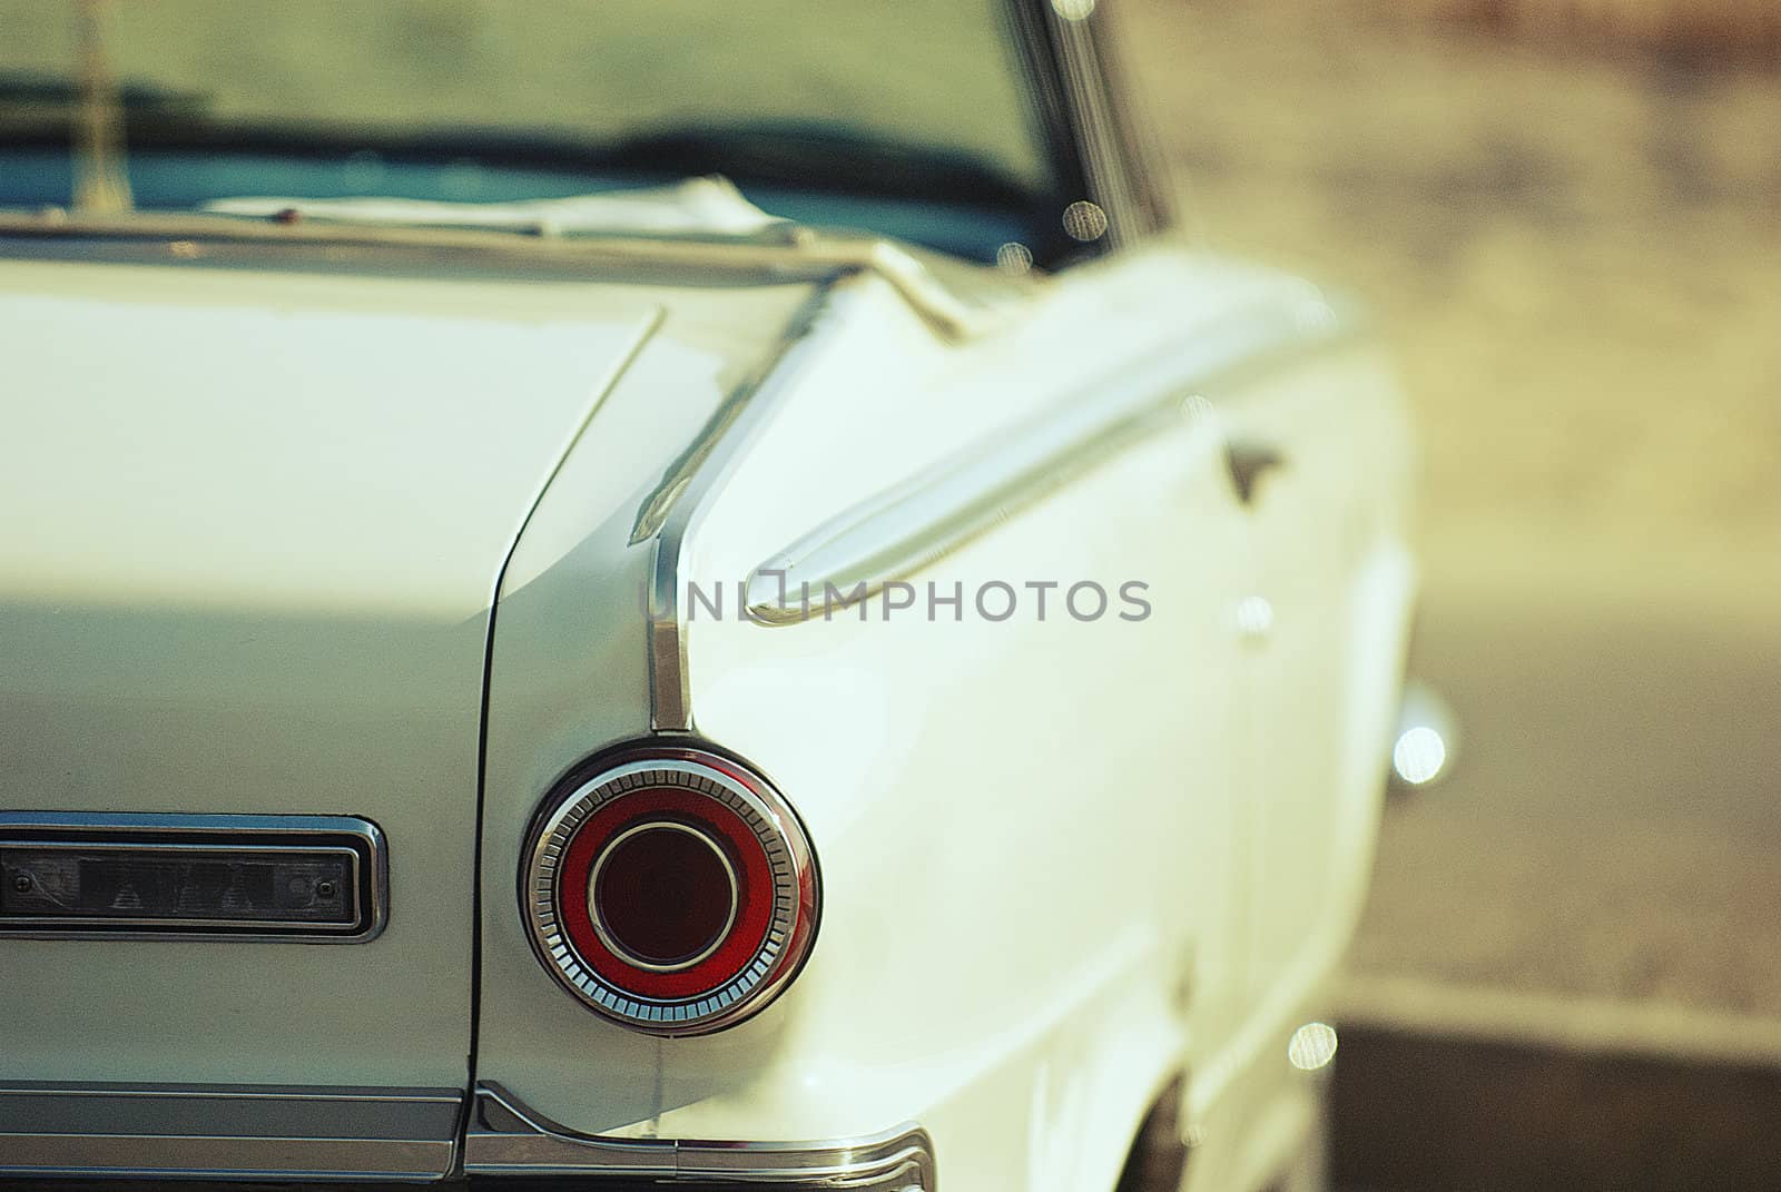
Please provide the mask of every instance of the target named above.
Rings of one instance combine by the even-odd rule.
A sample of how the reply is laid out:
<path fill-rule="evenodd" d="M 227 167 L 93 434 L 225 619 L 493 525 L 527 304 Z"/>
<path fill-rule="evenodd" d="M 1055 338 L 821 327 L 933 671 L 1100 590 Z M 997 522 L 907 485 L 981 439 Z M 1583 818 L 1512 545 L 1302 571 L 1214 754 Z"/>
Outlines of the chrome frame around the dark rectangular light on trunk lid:
<path fill-rule="evenodd" d="M 182 839 L 159 843 L 157 837 L 164 836 Z M 141 841 L 132 845 L 118 837 L 141 837 Z M 310 921 L 0 916 L 0 939 L 362 944 L 383 934 L 390 918 L 388 843 L 376 823 L 360 816 L 0 811 L 0 848 L 7 845 L 36 850 L 351 852 L 353 900 L 362 907 L 362 914 L 351 930 L 342 930 L 338 923 Z M 77 921 L 80 927 L 75 927 Z"/>

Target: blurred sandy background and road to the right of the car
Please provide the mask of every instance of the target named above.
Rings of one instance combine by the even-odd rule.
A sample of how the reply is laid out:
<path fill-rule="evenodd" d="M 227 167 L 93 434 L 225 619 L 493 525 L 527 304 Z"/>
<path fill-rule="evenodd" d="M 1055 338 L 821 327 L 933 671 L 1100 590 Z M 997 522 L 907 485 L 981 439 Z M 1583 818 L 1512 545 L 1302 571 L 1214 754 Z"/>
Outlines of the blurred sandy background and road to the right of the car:
<path fill-rule="evenodd" d="M 1354 971 L 1781 1017 L 1772 9 L 1124 7 L 1197 232 L 1359 292 L 1421 422 L 1466 741 Z"/>

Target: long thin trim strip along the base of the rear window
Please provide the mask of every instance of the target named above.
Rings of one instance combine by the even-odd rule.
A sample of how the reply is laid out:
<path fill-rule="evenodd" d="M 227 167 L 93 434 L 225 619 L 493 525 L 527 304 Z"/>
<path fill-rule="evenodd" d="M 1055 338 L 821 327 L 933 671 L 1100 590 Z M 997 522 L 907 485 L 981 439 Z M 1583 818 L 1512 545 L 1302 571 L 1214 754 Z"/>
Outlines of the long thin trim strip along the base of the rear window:
<path fill-rule="evenodd" d="M 687 271 L 759 283 L 839 282 L 855 273 L 883 278 L 908 306 L 947 340 L 969 340 L 994 330 L 1001 319 L 996 303 L 974 303 L 940 280 L 921 257 L 903 244 L 871 235 L 844 235 L 794 228 L 778 242 L 698 241 L 671 237 L 572 237 L 525 235 L 472 228 L 404 228 L 340 225 L 321 219 L 274 223 L 244 216 L 135 210 L 123 216 L 82 212 L 20 212 L 0 208 L 0 239 L 103 239 L 159 242 L 167 260 L 205 257 L 203 244 L 272 244 L 363 249 L 449 249 L 477 253 L 500 265 L 573 265 L 620 269 L 684 280 Z M 194 242 L 199 246 L 194 253 Z M 175 253 L 178 246 L 178 253 Z M 335 258 L 324 258 L 335 260 Z M 958 262 L 1010 287 L 1010 278 L 990 267 Z M 1028 289 L 1037 282 L 1026 282 Z"/>

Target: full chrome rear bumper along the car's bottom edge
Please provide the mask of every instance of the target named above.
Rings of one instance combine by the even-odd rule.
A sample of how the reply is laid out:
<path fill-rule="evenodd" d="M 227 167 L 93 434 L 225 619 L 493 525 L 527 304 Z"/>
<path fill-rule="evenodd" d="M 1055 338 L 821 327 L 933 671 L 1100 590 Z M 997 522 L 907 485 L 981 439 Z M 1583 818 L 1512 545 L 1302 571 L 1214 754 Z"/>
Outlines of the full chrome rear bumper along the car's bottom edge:
<path fill-rule="evenodd" d="M 691 1188 L 935 1192 L 933 1144 L 901 1126 L 837 1142 L 609 1139 L 481 1085 L 456 1089 L 0 1085 L 0 1180 L 459 1181 L 577 1176 Z M 484 1180 L 486 1178 L 486 1180 Z M 4 1192 L 4 1188 L 0 1188 Z"/>

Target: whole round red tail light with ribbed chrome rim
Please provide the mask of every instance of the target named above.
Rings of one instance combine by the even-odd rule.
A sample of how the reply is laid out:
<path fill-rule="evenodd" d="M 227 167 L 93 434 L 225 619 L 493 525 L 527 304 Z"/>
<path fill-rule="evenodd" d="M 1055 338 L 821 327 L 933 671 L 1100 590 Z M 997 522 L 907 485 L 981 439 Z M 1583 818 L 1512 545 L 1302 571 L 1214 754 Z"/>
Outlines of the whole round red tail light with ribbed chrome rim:
<path fill-rule="evenodd" d="M 816 941 L 821 886 L 791 805 L 698 748 L 618 757 L 545 802 L 524 875 L 545 967 L 627 1026 L 698 1035 L 764 1008 Z"/>

